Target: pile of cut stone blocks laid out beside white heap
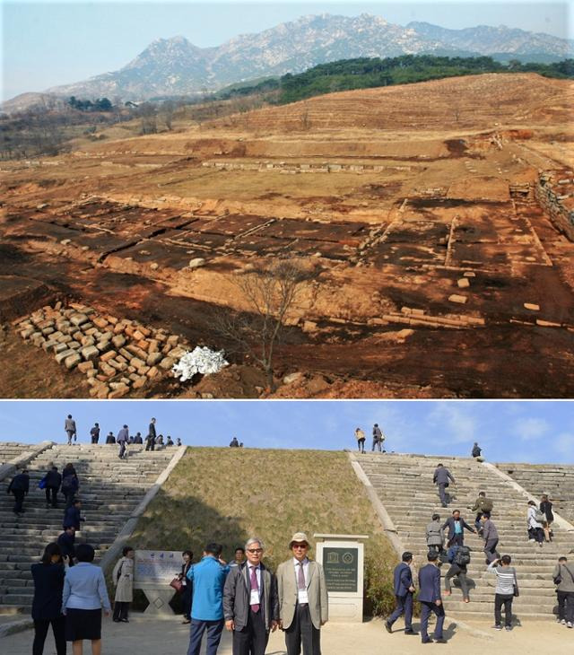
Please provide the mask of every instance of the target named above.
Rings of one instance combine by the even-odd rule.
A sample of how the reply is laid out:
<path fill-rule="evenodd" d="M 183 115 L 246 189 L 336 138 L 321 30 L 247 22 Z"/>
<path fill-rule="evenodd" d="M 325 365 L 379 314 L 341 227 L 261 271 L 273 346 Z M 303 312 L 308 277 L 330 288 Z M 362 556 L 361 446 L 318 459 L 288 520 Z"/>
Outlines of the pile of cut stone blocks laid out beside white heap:
<path fill-rule="evenodd" d="M 126 396 L 160 380 L 189 347 L 160 328 L 118 319 L 79 303 L 57 302 L 15 323 L 22 339 L 49 354 L 68 370 L 82 372 L 99 398 Z"/>

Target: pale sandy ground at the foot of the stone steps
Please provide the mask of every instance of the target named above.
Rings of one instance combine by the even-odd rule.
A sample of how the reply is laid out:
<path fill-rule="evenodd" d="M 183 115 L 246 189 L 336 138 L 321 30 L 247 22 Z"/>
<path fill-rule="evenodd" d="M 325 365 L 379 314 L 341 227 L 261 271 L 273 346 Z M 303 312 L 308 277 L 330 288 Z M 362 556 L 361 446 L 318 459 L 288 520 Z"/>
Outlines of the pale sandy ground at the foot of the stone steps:
<path fill-rule="evenodd" d="M 400 621 L 399 621 L 400 624 Z M 574 630 L 552 621 L 529 622 L 515 628 L 512 633 L 495 633 L 490 624 L 473 623 L 472 630 L 457 627 L 447 620 L 448 644 L 433 646 L 431 651 L 465 655 L 571 655 L 574 652 Z M 418 623 L 414 624 L 418 628 Z M 407 637 L 400 632 L 387 634 L 381 621 L 374 620 L 361 625 L 327 624 L 323 629 L 323 655 L 383 655 L 393 649 L 401 655 L 428 653 L 429 647 L 422 645 L 419 637 Z M 0 651 L 10 655 L 29 655 L 33 633 L 13 634 L 0 642 Z M 178 617 L 170 620 L 148 620 L 143 616 L 133 617 L 129 625 L 104 621 L 104 655 L 185 655 L 188 642 L 188 626 L 182 625 Z M 86 643 L 86 646 L 88 644 Z M 44 655 L 55 655 L 51 635 L 46 642 Z M 87 655 L 89 648 L 84 651 Z M 231 655 L 230 637 L 224 634 L 218 655 Z M 266 655 L 286 655 L 283 633 L 274 633 Z"/>

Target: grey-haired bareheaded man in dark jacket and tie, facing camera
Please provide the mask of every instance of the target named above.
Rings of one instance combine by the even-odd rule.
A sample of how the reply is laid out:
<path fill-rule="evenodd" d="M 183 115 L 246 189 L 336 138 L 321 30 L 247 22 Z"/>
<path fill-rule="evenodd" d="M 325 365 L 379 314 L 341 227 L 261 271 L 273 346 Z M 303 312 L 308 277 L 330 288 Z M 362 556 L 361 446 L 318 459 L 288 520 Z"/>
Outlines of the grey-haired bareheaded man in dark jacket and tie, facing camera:
<path fill-rule="evenodd" d="M 279 624 L 277 579 L 261 563 L 263 541 L 245 545 L 248 561 L 232 568 L 223 588 L 225 627 L 233 633 L 233 655 L 265 655 L 269 631 Z"/>

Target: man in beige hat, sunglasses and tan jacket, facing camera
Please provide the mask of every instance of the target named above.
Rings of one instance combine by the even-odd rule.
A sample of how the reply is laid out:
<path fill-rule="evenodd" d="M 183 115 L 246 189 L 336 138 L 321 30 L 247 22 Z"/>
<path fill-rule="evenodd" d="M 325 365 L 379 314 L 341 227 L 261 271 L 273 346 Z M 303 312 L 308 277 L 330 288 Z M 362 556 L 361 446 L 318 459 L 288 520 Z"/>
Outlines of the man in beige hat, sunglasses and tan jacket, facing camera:
<path fill-rule="evenodd" d="M 309 539 L 296 532 L 289 544 L 293 556 L 279 564 L 279 624 L 285 633 L 287 655 L 321 655 L 320 628 L 329 617 L 325 572 L 307 556 Z"/>

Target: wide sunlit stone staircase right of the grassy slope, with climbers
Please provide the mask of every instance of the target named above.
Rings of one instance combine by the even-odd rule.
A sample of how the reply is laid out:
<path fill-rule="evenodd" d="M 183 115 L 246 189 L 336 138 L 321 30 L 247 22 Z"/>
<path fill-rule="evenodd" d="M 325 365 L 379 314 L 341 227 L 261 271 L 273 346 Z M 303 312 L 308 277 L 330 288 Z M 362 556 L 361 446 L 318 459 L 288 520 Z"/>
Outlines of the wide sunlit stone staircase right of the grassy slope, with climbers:
<path fill-rule="evenodd" d="M 427 546 L 425 527 L 431 515 L 438 513 L 442 521 L 458 509 L 466 522 L 474 526 L 474 505 L 478 492 L 484 491 L 494 501 L 492 520 L 499 530 L 500 555 L 512 556 L 517 568 L 520 597 L 515 598 L 514 614 L 523 616 L 552 616 L 556 595 L 552 583 L 552 569 L 560 555 L 570 552 L 573 533 L 565 529 L 554 530 L 554 540 L 543 548 L 528 541 L 526 533 L 526 497 L 490 470 L 470 458 L 437 458 L 401 454 L 356 455 L 362 470 L 373 485 L 405 550 L 413 552 L 417 567 L 426 563 Z M 441 507 L 433 472 L 442 462 L 455 477 L 457 484 L 450 485 L 451 502 L 448 509 Z M 447 615 L 492 616 L 495 576 L 486 572 L 483 540 L 465 530 L 465 546 L 471 548 L 468 578 L 474 581 L 470 603 L 462 602 L 459 588 L 444 598 Z M 441 567 L 442 575 L 448 564 Z"/>

